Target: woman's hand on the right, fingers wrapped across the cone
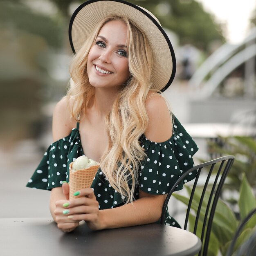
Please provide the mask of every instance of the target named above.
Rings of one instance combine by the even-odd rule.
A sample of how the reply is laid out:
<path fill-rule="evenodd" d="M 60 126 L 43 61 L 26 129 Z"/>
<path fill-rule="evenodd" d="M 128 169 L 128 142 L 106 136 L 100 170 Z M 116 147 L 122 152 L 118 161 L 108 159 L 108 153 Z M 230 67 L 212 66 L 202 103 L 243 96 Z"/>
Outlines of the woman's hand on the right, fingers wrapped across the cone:
<path fill-rule="evenodd" d="M 67 192 L 66 192 L 67 193 Z M 69 220 L 84 220 L 92 230 L 102 229 L 99 214 L 99 202 L 96 200 L 91 188 L 81 189 L 76 192 L 77 198 L 70 200 L 65 207 L 63 216 Z"/>

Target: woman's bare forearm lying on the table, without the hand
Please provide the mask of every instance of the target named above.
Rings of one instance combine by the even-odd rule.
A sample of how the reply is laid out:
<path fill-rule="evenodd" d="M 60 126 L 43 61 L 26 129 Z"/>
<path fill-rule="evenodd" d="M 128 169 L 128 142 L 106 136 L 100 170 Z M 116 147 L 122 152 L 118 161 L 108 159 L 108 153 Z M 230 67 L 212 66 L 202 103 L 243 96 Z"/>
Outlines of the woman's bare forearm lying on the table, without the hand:
<path fill-rule="evenodd" d="M 146 196 L 121 207 L 99 211 L 102 229 L 129 227 L 153 223 L 159 220 L 163 201 Z"/>

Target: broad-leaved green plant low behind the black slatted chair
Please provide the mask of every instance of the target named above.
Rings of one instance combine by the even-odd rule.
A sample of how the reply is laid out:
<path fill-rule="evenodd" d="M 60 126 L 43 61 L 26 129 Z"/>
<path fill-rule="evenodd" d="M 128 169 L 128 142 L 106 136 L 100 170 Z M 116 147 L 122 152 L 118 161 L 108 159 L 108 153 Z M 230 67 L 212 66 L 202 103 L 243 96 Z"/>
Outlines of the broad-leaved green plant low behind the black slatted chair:
<path fill-rule="evenodd" d="M 188 194 L 191 193 L 191 187 L 186 186 L 186 190 Z M 240 220 L 243 220 L 245 216 L 254 208 L 256 208 L 256 197 L 252 191 L 251 186 L 245 174 L 242 175 L 242 181 L 240 185 L 240 196 L 238 200 L 238 205 L 240 209 L 240 219 L 236 218 L 234 211 L 221 199 L 218 200 L 218 204 L 216 207 L 216 212 L 213 218 L 213 225 L 211 229 L 211 237 L 208 247 L 207 256 L 217 256 L 220 252 L 222 256 L 225 256 L 227 253 L 227 249 L 231 243 L 231 240 L 234 236 L 236 229 L 238 228 Z M 197 211 L 198 204 L 200 201 L 200 197 L 202 194 L 202 188 L 198 187 L 195 190 L 194 199 L 192 202 L 191 209 Z M 188 204 L 189 197 L 174 193 L 173 196 L 183 202 L 184 204 Z M 198 222 L 197 236 L 201 236 L 201 231 L 203 227 L 203 218 L 204 213 L 206 211 L 207 202 L 209 199 L 209 192 L 207 192 L 204 196 L 204 201 L 202 204 L 202 210 L 200 213 L 200 218 Z M 193 232 L 193 227 L 195 223 L 195 212 L 190 213 L 189 215 L 189 231 Z M 252 230 L 256 227 L 256 216 L 251 218 L 247 223 L 245 229 L 240 234 L 239 239 L 236 243 L 235 249 L 237 249 L 240 245 L 242 245 L 247 237 L 252 233 Z"/>

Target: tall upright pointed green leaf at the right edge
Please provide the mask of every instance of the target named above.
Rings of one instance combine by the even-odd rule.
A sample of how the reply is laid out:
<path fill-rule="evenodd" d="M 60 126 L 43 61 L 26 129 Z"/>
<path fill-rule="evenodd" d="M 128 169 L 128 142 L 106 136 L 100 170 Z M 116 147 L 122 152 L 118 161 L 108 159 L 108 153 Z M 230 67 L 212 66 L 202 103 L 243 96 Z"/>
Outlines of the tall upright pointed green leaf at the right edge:
<path fill-rule="evenodd" d="M 252 209 L 256 208 L 256 198 L 252 192 L 245 173 L 243 173 L 242 183 L 240 186 L 240 198 L 238 200 L 241 219 L 244 219 Z"/>

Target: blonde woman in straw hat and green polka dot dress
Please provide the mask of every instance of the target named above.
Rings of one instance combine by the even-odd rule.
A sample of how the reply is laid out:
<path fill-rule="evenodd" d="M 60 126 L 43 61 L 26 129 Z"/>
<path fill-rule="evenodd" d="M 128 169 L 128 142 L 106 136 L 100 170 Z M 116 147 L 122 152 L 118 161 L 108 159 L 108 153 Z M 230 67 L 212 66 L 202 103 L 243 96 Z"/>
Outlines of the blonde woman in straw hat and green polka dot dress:
<path fill-rule="evenodd" d="M 152 13 L 116 0 L 81 4 L 70 42 L 72 85 L 54 109 L 55 142 L 27 186 L 51 190 L 50 211 L 65 232 L 81 220 L 93 230 L 157 222 L 197 150 L 160 94 L 175 74 L 171 43 Z M 81 155 L 101 166 L 91 188 L 76 193 L 83 197 L 69 200 L 68 166 Z M 179 227 L 168 214 L 166 225 Z"/>

